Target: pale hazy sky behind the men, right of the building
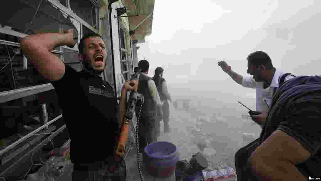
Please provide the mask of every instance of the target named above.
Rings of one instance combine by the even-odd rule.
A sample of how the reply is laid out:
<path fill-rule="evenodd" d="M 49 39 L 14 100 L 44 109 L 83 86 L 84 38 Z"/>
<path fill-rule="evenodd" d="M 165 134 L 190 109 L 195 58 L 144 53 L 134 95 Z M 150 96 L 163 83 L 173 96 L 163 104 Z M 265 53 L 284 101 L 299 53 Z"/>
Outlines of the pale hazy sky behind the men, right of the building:
<path fill-rule="evenodd" d="M 138 59 L 156 67 L 173 99 L 198 97 L 227 109 L 255 108 L 255 90 L 236 84 L 217 62 L 245 76 L 246 57 L 269 54 L 273 66 L 295 75 L 320 75 L 319 0 L 157 0 L 152 34 L 138 44 Z M 246 110 L 244 110 L 247 113 Z"/>

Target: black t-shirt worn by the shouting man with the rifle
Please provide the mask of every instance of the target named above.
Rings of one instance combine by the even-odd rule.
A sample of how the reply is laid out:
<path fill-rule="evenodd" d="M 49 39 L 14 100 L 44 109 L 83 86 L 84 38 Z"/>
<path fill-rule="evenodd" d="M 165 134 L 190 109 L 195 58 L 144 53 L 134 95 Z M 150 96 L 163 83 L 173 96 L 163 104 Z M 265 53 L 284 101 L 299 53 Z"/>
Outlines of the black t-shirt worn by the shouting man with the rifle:
<path fill-rule="evenodd" d="M 115 152 L 119 133 L 112 87 L 101 77 L 77 72 L 68 65 L 65 75 L 51 83 L 71 139 L 71 161 L 90 164 L 107 160 Z"/>

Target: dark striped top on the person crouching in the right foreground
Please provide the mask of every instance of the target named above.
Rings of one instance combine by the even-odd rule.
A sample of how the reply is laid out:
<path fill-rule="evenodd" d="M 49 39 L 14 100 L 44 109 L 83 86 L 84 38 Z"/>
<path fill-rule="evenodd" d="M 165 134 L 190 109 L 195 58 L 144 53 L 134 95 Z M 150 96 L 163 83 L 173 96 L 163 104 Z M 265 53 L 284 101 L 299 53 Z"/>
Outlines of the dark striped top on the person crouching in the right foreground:
<path fill-rule="evenodd" d="M 262 143 L 276 129 L 295 138 L 311 154 L 296 165 L 307 178 L 320 177 L 321 166 L 321 77 L 300 76 L 285 82 L 273 97 L 263 127 Z M 295 150 L 294 150 L 295 151 Z"/>

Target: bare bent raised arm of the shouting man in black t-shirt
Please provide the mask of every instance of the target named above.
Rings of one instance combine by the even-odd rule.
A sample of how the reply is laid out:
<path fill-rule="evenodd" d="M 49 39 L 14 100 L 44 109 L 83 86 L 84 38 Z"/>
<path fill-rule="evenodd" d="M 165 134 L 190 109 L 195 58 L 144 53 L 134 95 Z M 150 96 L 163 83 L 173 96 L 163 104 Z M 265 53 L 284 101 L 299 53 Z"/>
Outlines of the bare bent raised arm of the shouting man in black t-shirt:
<path fill-rule="evenodd" d="M 73 30 L 65 33 L 40 33 L 22 38 L 20 46 L 42 76 L 57 81 L 65 74 L 65 65 L 51 50 L 57 46 L 74 47 Z"/>

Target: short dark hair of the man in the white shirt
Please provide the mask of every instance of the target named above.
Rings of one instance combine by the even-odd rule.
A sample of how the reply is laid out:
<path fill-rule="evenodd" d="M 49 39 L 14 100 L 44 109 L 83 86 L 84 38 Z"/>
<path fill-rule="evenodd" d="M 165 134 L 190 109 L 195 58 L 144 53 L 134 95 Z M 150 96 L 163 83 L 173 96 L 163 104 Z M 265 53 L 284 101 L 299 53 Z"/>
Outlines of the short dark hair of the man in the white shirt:
<path fill-rule="evenodd" d="M 250 65 L 260 66 L 264 65 L 267 70 L 273 68 L 271 58 L 263 51 L 256 51 L 247 56 L 247 61 Z"/>

